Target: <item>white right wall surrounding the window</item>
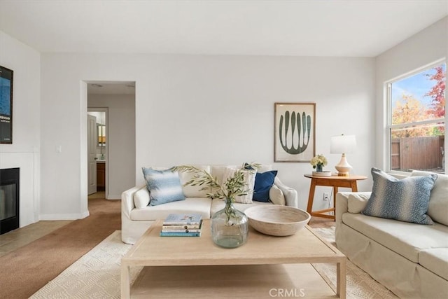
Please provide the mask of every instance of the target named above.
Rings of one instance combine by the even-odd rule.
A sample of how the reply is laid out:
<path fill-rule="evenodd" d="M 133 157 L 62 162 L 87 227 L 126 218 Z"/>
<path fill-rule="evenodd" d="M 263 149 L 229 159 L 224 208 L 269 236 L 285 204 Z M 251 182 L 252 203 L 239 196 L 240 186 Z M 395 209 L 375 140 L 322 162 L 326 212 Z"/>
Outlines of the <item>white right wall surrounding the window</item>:
<path fill-rule="evenodd" d="M 375 164 L 377 167 L 386 169 L 388 160 L 388 156 L 384 154 L 386 152 L 387 136 L 387 107 L 384 83 L 446 57 L 448 57 L 448 17 L 423 29 L 376 58 L 377 143 L 375 147 Z M 448 109 L 445 109 L 445 111 L 448 111 Z M 445 148 L 447 148 L 447 145 L 448 140 L 445 139 Z M 445 159 L 445 163 L 445 169 L 447 169 L 448 159 Z"/>

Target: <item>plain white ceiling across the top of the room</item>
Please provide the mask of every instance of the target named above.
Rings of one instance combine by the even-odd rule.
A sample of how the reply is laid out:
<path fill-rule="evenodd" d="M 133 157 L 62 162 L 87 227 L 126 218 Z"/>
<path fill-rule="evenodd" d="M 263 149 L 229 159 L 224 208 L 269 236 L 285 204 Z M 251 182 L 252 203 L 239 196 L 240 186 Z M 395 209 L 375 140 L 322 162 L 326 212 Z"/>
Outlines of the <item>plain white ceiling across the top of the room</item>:
<path fill-rule="evenodd" d="M 43 52 L 375 57 L 448 0 L 1 0 L 0 29 Z"/>

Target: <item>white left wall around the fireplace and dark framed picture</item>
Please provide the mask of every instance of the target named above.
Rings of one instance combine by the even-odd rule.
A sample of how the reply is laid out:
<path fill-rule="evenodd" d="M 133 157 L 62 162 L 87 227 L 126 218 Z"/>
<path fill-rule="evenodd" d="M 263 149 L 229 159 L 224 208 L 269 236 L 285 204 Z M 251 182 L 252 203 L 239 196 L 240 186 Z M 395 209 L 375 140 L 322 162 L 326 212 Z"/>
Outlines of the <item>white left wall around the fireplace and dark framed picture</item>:
<path fill-rule="evenodd" d="M 20 227 L 39 220 L 40 54 L 0 32 L 0 64 L 14 71 L 13 144 L 0 144 L 0 168 L 20 167 Z"/>

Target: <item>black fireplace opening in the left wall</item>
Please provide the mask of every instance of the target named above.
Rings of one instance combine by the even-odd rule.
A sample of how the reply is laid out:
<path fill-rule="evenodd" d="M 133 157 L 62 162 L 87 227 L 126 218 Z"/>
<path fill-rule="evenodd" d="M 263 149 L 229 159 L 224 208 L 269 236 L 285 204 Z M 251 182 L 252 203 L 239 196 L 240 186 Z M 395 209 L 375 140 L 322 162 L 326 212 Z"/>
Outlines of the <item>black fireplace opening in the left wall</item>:
<path fill-rule="evenodd" d="M 20 169 L 0 169 L 0 235 L 19 228 Z"/>

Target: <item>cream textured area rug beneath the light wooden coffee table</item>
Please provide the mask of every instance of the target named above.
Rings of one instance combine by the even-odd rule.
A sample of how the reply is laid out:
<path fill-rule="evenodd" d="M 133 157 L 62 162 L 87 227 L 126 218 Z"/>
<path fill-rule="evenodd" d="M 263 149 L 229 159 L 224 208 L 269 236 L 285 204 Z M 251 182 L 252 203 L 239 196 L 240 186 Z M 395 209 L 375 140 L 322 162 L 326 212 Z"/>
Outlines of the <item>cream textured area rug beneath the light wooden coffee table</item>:
<path fill-rule="evenodd" d="M 325 239 L 334 242 L 334 228 L 316 228 Z M 85 256 L 77 260 L 31 298 L 120 298 L 120 260 L 132 245 L 121 242 L 116 230 Z M 335 290 L 336 267 L 313 264 L 327 284 Z M 141 267 L 131 268 L 133 282 Z M 349 262 L 346 266 L 346 298 L 397 298 L 367 273 Z"/>

